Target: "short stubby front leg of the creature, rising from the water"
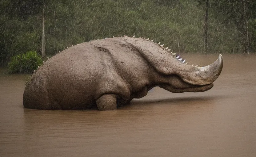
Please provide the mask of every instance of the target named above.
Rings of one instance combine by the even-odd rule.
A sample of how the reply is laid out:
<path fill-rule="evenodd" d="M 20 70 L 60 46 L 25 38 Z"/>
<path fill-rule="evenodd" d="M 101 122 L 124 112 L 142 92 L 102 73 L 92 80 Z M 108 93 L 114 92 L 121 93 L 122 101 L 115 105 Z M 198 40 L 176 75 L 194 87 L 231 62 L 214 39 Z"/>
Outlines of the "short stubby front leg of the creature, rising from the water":
<path fill-rule="evenodd" d="M 99 110 L 116 110 L 117 108 L 117 95 L 104 94 L 96 100 Z"/>

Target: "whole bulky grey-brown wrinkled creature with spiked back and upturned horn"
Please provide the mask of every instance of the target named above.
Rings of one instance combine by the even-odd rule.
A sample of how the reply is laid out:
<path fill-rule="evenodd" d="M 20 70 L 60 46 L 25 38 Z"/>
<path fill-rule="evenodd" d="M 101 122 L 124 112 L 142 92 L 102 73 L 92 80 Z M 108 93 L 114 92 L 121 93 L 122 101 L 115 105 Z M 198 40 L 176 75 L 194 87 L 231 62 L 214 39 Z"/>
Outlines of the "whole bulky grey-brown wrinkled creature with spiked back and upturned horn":
<path fill-rule="evenodd" d="M 116 37 L 72 46 L 47 60 L 26 85 L 23 105 L 32 109 L 115 110 L 159 86 L 173 93 L 203 92 L 222 71 L 193 67 L 142 38 Z"/>

